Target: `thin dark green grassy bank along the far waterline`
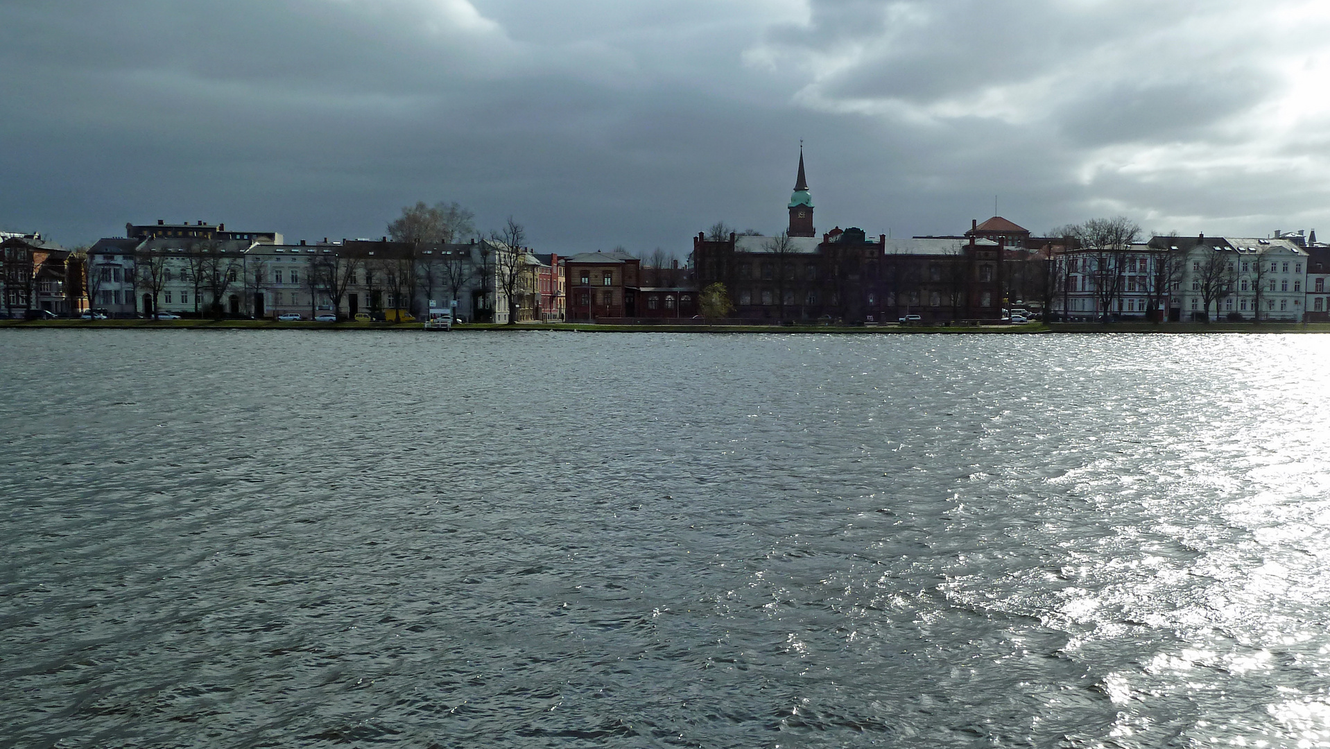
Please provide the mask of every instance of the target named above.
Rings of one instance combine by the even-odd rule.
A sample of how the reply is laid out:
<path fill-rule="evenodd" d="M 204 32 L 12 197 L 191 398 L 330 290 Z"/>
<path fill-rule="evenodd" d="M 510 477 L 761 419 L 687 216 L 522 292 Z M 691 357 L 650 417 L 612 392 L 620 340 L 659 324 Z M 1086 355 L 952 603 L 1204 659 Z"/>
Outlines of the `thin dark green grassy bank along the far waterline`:
<path fill-rule="evenodd" d="M 44 319 L 21 321 L 0 319 L 0 330 L 391 330 L 438 334 L 424 330 L 419 322 L 379 323 L 379 322 L 275 322 L 267 319 Z M 879 325 L 879 326 L 837 326 L 837 325 L 595 325 L 595 323 L 468 323 L 459 325 L 455 331 L 532 331 L 560 330 L 568 333 L 845 333 L 857 335 L 872 334 L 1049 334 L 1049 333 L 1330 333 L 1330 323 L 1232 323 L 1232 322 L 1113 322 L 1113 323 L 1027 323 L 991 326 L 927 326 L 927 325 Z"/>

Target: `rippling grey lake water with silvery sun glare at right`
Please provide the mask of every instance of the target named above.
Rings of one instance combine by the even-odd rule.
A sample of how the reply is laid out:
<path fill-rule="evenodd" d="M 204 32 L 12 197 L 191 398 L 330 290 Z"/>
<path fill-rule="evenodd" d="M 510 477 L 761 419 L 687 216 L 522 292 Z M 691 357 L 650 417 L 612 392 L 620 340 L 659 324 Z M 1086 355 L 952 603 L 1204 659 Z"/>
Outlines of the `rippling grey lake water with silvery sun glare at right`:
<path fill-rule="evenodd" d="M 1326 746 L 1327 363 L 3 331 L 0 745 Z"/>

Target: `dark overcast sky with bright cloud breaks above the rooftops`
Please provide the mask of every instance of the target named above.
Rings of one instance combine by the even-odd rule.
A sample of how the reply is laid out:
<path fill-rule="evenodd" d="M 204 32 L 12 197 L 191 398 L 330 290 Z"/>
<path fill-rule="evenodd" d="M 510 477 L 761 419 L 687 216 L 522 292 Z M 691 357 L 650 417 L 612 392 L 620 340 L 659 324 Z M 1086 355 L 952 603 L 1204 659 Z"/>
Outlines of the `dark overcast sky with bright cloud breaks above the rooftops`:
<path fill-rule="evenodd" d="M 0 0 L 0 229 L 379 237 L 418 200 L 544 251 L 819 231 L 1330 235 L 1330 3 Z"/>

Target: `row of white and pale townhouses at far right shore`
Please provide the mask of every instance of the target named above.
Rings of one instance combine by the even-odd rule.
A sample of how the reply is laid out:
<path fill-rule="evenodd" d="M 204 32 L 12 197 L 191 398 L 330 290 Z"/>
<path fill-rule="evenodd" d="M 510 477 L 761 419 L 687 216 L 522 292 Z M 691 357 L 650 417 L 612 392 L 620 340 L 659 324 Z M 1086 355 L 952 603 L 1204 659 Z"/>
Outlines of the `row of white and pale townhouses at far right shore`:
<path fill-rule="evenodd" d="M 1061 247 L 1052 309 L 1072 321 L 1326 321 L 1327 253 L 1314 233 Z"/>

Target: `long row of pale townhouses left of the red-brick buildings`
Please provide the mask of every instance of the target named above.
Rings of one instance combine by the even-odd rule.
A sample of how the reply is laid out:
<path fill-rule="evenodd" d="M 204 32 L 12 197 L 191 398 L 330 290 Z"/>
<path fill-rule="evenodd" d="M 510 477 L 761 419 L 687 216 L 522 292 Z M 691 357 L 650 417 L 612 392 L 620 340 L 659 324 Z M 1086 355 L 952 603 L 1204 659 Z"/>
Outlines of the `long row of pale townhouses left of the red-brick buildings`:
<path fill-rule="evenodd" d="M 185 315 L 378 319 L 451 306 L 471 321 L 559 321 L 563 259 L 496 242 L 390 242 L 387 237 L 285 243 L 225 225 L 126 226 L 88 251 L 88 306 L 114 317 Z M 509 303 L 509 301 L 512 303 Z"/>

